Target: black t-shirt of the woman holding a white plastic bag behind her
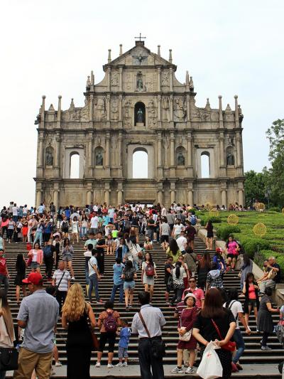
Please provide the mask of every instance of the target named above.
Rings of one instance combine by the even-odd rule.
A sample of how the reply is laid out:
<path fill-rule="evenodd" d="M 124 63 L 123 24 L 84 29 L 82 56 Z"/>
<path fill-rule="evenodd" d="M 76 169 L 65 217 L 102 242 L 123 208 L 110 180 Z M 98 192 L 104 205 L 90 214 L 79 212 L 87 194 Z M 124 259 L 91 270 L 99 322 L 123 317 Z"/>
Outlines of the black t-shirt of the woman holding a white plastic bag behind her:
<path fill-rule="evenodd" d="M 226 338 L 226 333 L 228 333 L 231 322 L 236 322 L 234 315 L 229 309 L 223 308 L 225 311 L 224 316 L 214 318 L 214 322 L 217 324 L 219 332 L 221 333 L 222 339 Z M 212 324 L 212 319 L 207 319 L 200 314 L 197 315 L 194 328 L 200 329 L 200 334 L 206 341 L 215 341 L 215 339 L 220 340 L 217 330 Z"/>

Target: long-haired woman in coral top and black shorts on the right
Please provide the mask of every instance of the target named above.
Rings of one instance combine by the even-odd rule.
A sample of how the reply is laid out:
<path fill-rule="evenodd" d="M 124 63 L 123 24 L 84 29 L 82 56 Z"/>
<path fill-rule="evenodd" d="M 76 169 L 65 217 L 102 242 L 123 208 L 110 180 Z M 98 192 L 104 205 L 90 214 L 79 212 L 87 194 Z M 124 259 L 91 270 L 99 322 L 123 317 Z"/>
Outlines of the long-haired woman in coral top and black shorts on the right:
<path fill-rule="evenodd" d="M 244 313 L 246 318 L 246 324 L 249 326 L 249 315 L 253 309 L 254 316 L 258 318 L 258 309 L 259 309 L 259 299 L 258 299 L 258 283 L 254 278 L 252 272 L 246 274 L 246 281 L 244 282 L 243 294 L 246 297 L 244 301 Z"/>

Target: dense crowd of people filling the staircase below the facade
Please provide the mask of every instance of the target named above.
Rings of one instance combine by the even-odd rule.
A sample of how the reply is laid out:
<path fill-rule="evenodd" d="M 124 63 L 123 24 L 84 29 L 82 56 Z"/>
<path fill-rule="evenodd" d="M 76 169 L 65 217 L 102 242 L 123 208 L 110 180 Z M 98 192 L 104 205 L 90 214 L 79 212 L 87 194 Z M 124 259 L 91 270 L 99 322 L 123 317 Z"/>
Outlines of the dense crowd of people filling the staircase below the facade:
<path fill-rule="evenodd" d="M 119 363 L 116 365 L 126 366 L 129 338 L 135 334 L 139 337 L 141 378 L 151 378 L 152 374 L 153 378 L 164 378 L 165 346 L 161 336 L 166 321 L 162 311 L 152 306 L 158 278 L 158 262 L 153 254 L 155 242 L 165 252 L 165 304 L 173 308 L 173 316 L 178 319 L 178 364 L 172 373 L 183 373 L 182 365 L 185 373 L 194 373 L 197 351 L 202 358 L 210 341 L 217 347 L 222 378 L 230 378 L 231 372 L 241 370 L 239 359 L 245 346 L 239 322 L 245 333 L 251 334 L 251 311 L 256 317 L 257 331 L 263 332 L 261 350 L 270 350 L 267 343 L 273 333 L 271 315 L 280 313 L 280 308 L 273 308 L 271 294 L 280 282 L 280 266 L 270 257 L 264 263 L 263 277 L 256 281 L 253 262 L 234 236 L 229 236 L 224 251 L 217 248 L 211 258 L 214 247 L 211 221 L 205 226 L 207 247 L 202 255 L 197 255 L 197 208 L 173 203 L 168 209 L 160 204 L 153 207 L 91 204 L 84 208 L 70 205 L 56 209 L 53 203 L 48 207 L 42 203 L 36 209 L 27 205 L 18 207 L 13 202 L 4 207 L 0 237 L 0 286 L 4 286 L 0 290 L 0 336 L 3 334 L 6 339 L 0 339 L 0 348 L 11 347 L 19 336 L 21 349 L 14 378 L 30 379 L 32 375 L 49 378 L 53 358 L 56 366 L 61 365 L 56 348 L 58 319 L 67 329 L 67 378 L 89 379 L 92 350 L 97 351 L 95 367 L 99 369 L 106 345 L 107 367 L 114 367 L 117 338 Z M 72 265 L 79 236 L 84 240 L 86 293 L 77 282 Z M 15 262 L 14 284 L 20 309 L 18 333 L 14 333 L 7 301 L 10 274 L 4 253 L 5 243 L 18 242 L 24 242 L 28 252 L 26 256 L 19 253 Z M 113 287 L 107 301 L 99 294 L 105 276 L 105 255 L 113 255 Z M 224 276 L 236 269 L 240 257 L 241 287 L 226 291 Z M 31 273 L 27 277 L 28 268 Z M 141 309 L 129 325 L 115 309 L 116 293 L 119 292 L 119 303 L 125 304 L 129 311 L 138 280 L 144 287 L 138 293 Z M 244 309 L 239 301 L 241 297 Z M 95 302 L 104 306 L 99 315 L 93 311 Z M 284 308 L 281 312 L 283 316 Z M 99 341 L 94 329 L 99 331 Z M 4 371 L 0 373 L 1 378 L 5 378 Z"/>

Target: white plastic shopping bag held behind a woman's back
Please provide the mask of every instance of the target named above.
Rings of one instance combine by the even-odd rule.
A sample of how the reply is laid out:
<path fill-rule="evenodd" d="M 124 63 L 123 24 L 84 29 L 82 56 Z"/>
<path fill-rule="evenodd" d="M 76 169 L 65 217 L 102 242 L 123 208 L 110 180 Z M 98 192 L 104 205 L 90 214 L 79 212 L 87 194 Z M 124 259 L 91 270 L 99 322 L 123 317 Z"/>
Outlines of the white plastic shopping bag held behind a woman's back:
<path fill-rule="evenodd" d="M 222 378 L 223 368 L 215 347 L 215 343 L 211 341 L 204 350 L 202 361 L 197 369 L 197 375 L 203 379 Z"/>

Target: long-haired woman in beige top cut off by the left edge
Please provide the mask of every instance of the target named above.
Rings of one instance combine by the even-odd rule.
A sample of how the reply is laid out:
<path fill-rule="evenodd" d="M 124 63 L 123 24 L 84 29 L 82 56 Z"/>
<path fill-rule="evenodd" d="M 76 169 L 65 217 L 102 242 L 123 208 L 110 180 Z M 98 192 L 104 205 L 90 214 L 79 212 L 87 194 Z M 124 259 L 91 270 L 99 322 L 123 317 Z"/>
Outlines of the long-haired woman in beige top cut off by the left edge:
<path fill-rule="evenodd" d="M 0 289 L 0 347 L 13 348 L 15 341 L 13 318 L 4 289 Z M 6 378 L 6 371 L 0 371 L 0 379 Z"/>

